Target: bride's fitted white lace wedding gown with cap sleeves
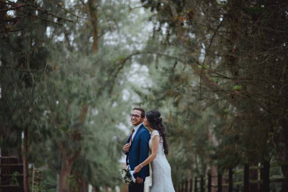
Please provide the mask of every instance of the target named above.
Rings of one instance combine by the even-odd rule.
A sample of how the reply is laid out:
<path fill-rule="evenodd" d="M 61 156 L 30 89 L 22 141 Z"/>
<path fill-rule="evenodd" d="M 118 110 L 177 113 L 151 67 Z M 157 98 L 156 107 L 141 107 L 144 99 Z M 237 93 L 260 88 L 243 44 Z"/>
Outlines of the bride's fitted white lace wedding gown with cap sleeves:
<path fill-rule="evenodd" d="M 159 135 L 157 130 L 151 132 L 149 148 L 152 147 L 152 138 Z M 150 192 L 175 192 L 172 179 L 171 168 L 164 154 L 162 139 L 160 138 L 158 152 L 155 159 L 151 162 L 152 168 L 152 186 Z"/>

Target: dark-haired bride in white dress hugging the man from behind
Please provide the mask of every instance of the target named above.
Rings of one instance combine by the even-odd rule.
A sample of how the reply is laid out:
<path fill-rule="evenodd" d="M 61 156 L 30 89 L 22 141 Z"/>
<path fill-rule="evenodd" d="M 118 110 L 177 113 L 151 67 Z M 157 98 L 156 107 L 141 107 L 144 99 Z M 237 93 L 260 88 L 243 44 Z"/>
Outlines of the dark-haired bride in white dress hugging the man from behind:
<path fill-rule="evenodd" d="M 152 186 L 150 192 L 175 192 L 171 179 L 171 168 L 165 156 L 168 154 L 168 145 L 160 112 L 147 112 L 144 126 L 151 131 L 149 140 L 151 155 L 136 166 L 134 171 L 137 173 L 141 171 L 142 167 L 151 163 Z"/>

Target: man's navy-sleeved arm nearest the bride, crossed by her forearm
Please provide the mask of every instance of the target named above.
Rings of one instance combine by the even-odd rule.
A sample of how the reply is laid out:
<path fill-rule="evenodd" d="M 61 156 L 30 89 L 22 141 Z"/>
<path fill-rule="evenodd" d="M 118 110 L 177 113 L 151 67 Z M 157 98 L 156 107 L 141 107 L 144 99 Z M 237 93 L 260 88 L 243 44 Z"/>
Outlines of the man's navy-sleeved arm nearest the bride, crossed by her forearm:
<path fill-rule="evenodd" d="M 148 131 L 144 131 L 140 136 L 140 163 L 147 159 L 149 155 L 149 139 L 150 135 Z M 147 169 L 149 169 L 149 165 L 144 166 L 141 171 L 137 173 L 137 177 L 144 179 Z"/>

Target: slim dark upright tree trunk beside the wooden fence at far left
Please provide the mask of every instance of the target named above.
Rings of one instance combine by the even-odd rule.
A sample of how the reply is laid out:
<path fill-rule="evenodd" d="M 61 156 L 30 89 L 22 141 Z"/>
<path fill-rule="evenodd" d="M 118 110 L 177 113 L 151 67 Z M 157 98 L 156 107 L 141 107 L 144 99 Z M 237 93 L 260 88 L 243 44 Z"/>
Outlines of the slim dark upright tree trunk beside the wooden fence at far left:
<path fill-rule="evenodd" d="M 24 128 L 24 139 L 23 139 L 23 184 L 24 191 L 30 192 L 29 188 L 29 169 L 28 169 L 28 128 Z"/>

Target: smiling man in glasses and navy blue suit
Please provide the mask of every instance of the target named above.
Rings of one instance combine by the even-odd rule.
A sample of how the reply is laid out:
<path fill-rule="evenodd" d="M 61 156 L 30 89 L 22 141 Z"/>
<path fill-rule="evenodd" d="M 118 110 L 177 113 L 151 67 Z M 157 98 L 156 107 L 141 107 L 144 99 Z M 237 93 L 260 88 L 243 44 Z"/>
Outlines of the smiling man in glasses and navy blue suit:
<path fill-rule="evenodd" d="M 126 164 L 130 165 L 131 170 L 142 163 L 149 153 L 149 131 L 144 127 L 143 120 L 145 111 L 142 108 L 134 108 L 131 115 L 131 124 L 134 126 L 123 152 L 126 154 Z M 135 184 L 129 185 L 129 192 L 143 192 L 145 178 L 149 176 L 149 165 L 144 166 L 139 173 L 136 173 Z"/>

